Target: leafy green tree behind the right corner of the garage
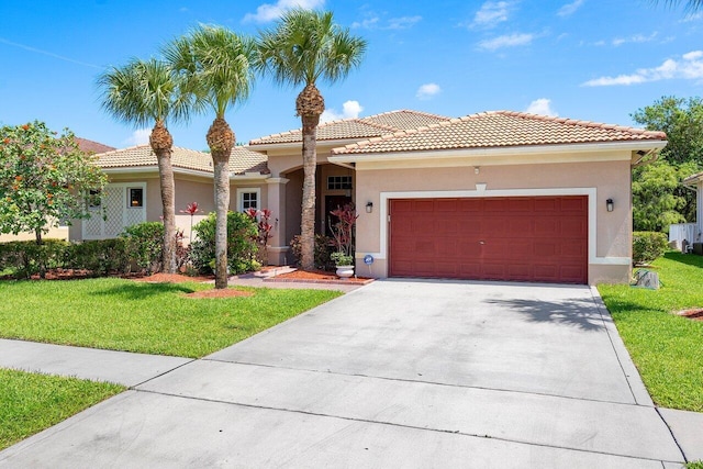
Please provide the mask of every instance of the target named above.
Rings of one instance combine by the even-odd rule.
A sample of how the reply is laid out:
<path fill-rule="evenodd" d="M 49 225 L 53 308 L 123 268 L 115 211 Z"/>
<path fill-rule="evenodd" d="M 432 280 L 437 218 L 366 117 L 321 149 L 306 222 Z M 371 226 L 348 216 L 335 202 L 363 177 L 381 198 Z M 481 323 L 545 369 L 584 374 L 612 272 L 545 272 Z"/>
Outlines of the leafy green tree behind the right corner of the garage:
<path fill-rule="evenodd" d="M 666 231 L 695 216 L 695 193 L 680 182 L 703 170 L 703 100 L 663 97 L 637 110 L 633 120 L 666 132 L 667 146 L 655 165 L 633 170 L 635 230 Z"/>

